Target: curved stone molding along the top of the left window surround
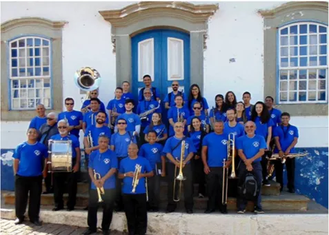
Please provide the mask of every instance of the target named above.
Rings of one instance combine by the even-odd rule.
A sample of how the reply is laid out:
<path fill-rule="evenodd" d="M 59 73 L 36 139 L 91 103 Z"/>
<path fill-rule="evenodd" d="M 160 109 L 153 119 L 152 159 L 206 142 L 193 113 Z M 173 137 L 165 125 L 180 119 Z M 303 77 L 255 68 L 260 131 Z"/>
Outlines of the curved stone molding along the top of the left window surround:
<path fill-rule="evenodd" d="M 1 32 L 6 32 L 10 28 L 19 27 L 22 25 L 38 25 L 38 27 L 43 26 L 50 28 L 51 30 L 59 30 L 68 23 L 66 21 L 50 21 L 49 19 L 43 19 L 38 17 L 24 17 L 20 19 L 11 19 L 1 23 Z"/>

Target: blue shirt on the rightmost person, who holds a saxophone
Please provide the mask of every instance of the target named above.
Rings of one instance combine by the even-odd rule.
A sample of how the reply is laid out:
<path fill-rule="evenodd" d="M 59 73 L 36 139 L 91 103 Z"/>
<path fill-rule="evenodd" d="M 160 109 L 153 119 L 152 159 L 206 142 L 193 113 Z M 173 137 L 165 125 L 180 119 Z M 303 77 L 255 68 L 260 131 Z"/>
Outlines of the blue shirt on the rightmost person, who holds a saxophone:
<path fill-rule="evenodd" d="M 291 145 L 292 141 L 294 141 L 295 137 L 299 137 L 298 129 L 295 125 L 288 125 L 287 127 L 280 125 L 275 128 L 274 132 L 275 137 L 279 137 L 279 142 L 282 148 L 282 151 L 285 152 L 287 148 Z M 277 147 L 275 147 L 275 153 L 279 152 Z M 290 150 L 290 153 L 295 153 L 295 147 Z"/>

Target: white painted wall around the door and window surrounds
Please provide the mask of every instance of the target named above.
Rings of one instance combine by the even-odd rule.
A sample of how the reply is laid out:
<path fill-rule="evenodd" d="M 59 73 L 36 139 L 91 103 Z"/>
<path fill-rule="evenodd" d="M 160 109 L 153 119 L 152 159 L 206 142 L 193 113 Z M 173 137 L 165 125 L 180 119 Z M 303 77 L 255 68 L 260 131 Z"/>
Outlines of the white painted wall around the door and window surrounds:
<path fill-rule="evenodd" d="M 73 97 L 78 108 L 81 96 L 74 85 L 74 72 L 82 66 L 92 66 L 103 77 L 100 99 L 107 105 L 116 81 L 115 54 L 110 25 L 99 10 L 119 9 L 131 3 L 3 2 L 1 23 L 19 17 L 68 21 L 63 28 L 63 95 Z M 210 107 L 215 104 L 216 94 L 228 90 L 233 90 L 238 100 L 246 90 L 252 94 L 252 103 L 263 99 L 263 19 L 257 10 L 281 3 L 219 3 L 219 10 L 210 19 L 204 54 L 204 96 Z M 232 58 L 235 62 L 230 63 Z M 292 124 L 300 129 L 299 147 L 328 146 L 328 116 L 292 117 Z M 28 122 L 1 121 L 1 148 L 14 148 L 25 141 L 27 128 Z"/>

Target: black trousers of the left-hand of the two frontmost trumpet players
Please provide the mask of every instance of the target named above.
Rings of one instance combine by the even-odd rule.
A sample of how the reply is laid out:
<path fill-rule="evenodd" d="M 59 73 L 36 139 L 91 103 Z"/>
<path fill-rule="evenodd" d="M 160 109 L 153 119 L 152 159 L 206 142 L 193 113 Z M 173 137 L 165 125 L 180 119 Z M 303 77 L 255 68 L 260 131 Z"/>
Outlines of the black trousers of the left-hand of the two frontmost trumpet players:
<path fill-rule="evenodd" d="M 105 194 L 101 194 L 103 203 L 99 203 L 97 190 L 90 190 L 88 200 L 88 226 L 93 231 L 97 230 L 97 210 L 99 206 L 103 207 L 103 219 L 101 221 L 101 229 L 108 231 L 112 222 L 113 206 L 115 198 L 115 189 L 104 190 Z"/>

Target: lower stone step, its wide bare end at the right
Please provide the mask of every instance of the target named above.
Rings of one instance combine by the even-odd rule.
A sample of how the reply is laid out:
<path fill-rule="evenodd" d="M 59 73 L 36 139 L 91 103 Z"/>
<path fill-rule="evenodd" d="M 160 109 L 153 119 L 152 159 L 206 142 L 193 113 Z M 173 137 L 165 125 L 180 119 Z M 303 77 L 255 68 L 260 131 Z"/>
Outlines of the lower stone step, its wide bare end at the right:
<path fill-rule="evenodd" d="M 3 194 L 5 204 L 14 205 L 14 192 Z M 68 199 L 68 194 L 63 196 L 64 203 Z M 194 198 L 195 210 L 205 210 L 208 198 Z M 237 198 L 228 198 L 228 210 L 237 210 Z M 308 202 L 310 199 L 298 194 L 289 194 L 283 192 L 279 196 L 262 196 L 263 210 L 290 210 L 290 211 L 306 211 L 308 210 Z M 52 194 L 41 195 L 41 205 L 53 205 L 54 198 Z M 64 204 L 65 205 L 65 204 Z M 85 207 L 88 205 L 88 194 L 77 194 L 77 207 Z M 166 198 L 161 198 L 160 209 L 165 210 L 167 205 Z M 183 210 L 184 202 L 183 197 L 179 202 L 178 209 Z M 252 211 L 252 203 L 248 203 L 248 210 Z"/>

